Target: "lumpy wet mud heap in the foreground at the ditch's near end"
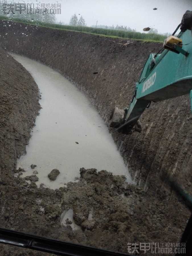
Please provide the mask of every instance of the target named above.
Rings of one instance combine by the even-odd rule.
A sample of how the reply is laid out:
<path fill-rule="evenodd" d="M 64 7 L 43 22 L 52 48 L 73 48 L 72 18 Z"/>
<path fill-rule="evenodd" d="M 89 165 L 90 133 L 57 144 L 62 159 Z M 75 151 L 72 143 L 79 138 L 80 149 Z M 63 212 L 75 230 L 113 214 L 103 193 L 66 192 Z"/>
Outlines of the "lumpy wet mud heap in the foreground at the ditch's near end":
<path fill-rule="evenodd" d="M 4 186 L 3 195 L 4 200 L 9 198 L 4 201 L 4 212 L 1 210 L 0 225 L 5 228 L 125 253 L 127 243 L 132 241 L 178 242 L 189 215 L 181 215 L 180 203 L 171 204 L 176 198 L 170 192 L 158 190 L 155 197 L 149 198 L 143 189 L 127 184 L 125 177 L 96 169 L 81 168 L 79 182 L 56 190 L 37 189 L 20 177 Z M 70 209 L 79 227 L 75 231 L 73 223 L 61 218 L 62 212 Z M 0 252 L 50 255 L 2 244 Z M 140 251 L 140 255 L 146 254 Z"/>

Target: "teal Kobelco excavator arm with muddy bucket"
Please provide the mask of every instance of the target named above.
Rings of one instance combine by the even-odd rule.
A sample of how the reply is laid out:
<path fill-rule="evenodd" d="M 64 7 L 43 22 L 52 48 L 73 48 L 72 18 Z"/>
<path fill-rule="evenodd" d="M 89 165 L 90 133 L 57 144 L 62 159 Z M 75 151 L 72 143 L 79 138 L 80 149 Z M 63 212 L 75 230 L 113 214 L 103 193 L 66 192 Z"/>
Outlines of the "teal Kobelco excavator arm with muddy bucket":
<path fill-rule="evenodd" d="M 181 28 L 178 36 L 174 36 Z M 129 108 L 115 108 L 110 126 L 129 134 L 133 127 L 141 131 L 138 122 L 151 102 L 190 94 L 192 109 L 192 12 L 187 11 L 158 53 L 151 53 L 144 65 Z"/>

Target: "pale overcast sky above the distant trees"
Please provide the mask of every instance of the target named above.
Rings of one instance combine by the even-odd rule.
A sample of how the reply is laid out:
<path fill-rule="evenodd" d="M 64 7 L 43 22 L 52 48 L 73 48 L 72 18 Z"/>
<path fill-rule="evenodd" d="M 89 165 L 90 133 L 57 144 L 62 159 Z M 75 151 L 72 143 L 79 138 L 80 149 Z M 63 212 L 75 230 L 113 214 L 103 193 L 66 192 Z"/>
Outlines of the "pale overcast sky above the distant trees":
<path fill-rule="evenodd" d="M 36 0 L 28 0 L 37 3 Z M 192 0 L 38 0 L 38 3 L 61 3 L 57 21 L 69 23 L 76 13 L 87 26 L 126 25 L 142 32 L 144 27 L 159 33 L 173 32 L 186 10 L 192 10 Z M 156 11 L 153 8 L 158 8 Z"/>

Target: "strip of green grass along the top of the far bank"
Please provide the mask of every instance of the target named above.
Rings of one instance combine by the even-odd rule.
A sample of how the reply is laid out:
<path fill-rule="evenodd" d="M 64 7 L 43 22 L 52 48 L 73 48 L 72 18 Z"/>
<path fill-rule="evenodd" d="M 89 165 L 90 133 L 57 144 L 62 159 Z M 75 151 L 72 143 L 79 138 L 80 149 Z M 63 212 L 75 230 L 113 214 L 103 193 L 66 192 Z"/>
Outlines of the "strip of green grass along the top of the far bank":
<path fill-rule="evenodd" d="M 141 32 L 134 32 L 134 31 L 123 31 L 123 30 L 111 30 L 111 29 L 104 29 L 104 28 L 92 28 L 92 27 L 83 27 L 83 26 L 69 26 L 69 25 L 60 25 L 54 23 L 45 23 L 45 22 L 38 22 L 38 21 L 28 21 L 21 18 L 8 18 L 5 16 L 0 16 L 0 19 L 4 20 L 13 20 L 15 22 L 22 22 L 25 24 L 32 24 L 46 28 L 55 28 L 60 30 L 71 30 L 76 32 L 84 32 L 89 34 L 97 34 L 100 36 L 108 36 L 112 38 L 129 38 L 135 40 L 142 40 L 142 41 L 152 41 L 152 42 L 163 42 L 165 40 L 164 35 L 160 34 L 152 34 L 152 33 L 141 33 Z"/>

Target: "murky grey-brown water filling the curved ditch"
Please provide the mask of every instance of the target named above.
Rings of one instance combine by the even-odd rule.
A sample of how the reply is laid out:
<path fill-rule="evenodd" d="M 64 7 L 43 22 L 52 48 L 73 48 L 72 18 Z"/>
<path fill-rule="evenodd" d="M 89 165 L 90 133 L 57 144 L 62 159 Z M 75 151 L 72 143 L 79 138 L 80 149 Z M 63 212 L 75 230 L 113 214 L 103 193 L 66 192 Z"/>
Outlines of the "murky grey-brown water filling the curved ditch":
<path fill-rule="evenodd" d="M 36 184 L 55 189 L 74 181 L 84 167 L 125 175 L 131 182 L 108 127 L 86 96 L 53 69 L 26 57 L 13 57 L 31 73 L 42 96 L 27 153 L 17 161 L 17 168 L 26 170 L 23 176 L 37 170 Z M 32 170 L 31 164 L 37 167 Z M 55 168 L 60 174 L 50 181 L 48 174 Z"/>

